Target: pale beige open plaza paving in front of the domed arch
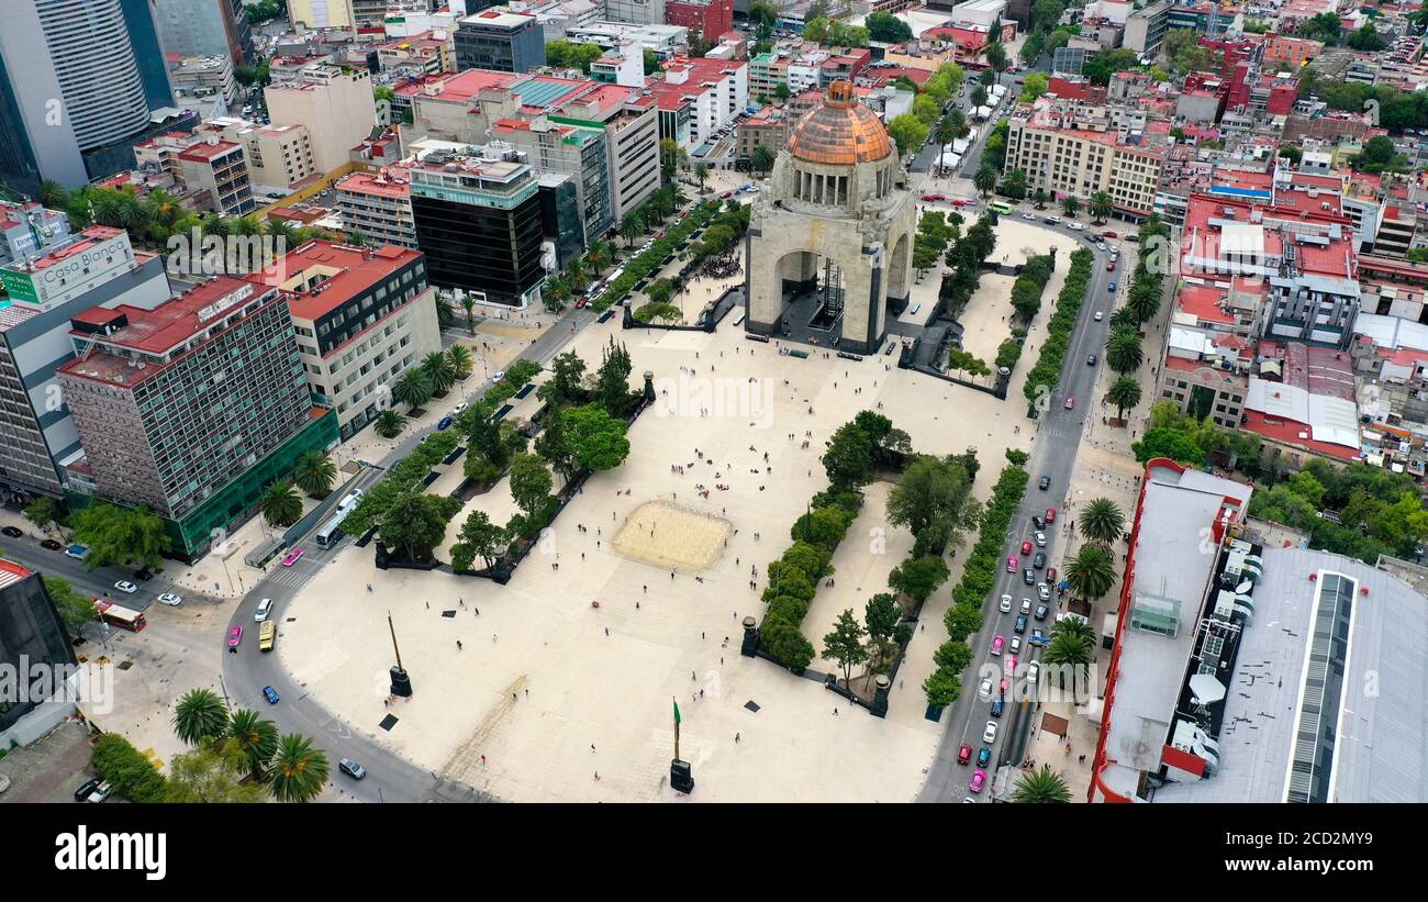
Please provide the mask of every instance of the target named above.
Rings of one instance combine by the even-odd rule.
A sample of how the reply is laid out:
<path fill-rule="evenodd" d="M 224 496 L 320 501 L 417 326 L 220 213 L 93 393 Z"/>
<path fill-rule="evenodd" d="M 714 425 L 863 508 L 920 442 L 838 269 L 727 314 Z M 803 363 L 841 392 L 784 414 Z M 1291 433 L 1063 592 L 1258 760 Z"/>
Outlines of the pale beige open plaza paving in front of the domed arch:
<path fill-rule="evenodd" d="M 934 294 L 935 281 L 925 280 Z M 1002 451 L 1030 447 L 1031 435 L 1014 431 L 1024 422 L 1020 400 L 1001 402 L 871 357 L 778 355 L 731 320 L 714 334 L 621 331 L 611 320 L 583 330 L 573 348 L 595 367 L 611 335 L 631 353 L 633 382 L 653 371 L 661 400 L 631 430 L 630 458 L 585 484 L 508 585 L 377 572 L 371 548 L 347 547 L 286 609 L 283 662 L 356 729 L 513 801 L 680 798 L 665 785 L 671 699 L 684 716 L 693 799 L 910 801 L 940 732 L 924 718 L 920 685 L 945 639 L 941 612 L 958 561 L 924 608 L 925 629 L 885 719 L 838 704 L 815 681 L 740 657 L 740 621 L 763 615 L 764 569 L 808 498 L 827 487 L 818 457 L 838 425 L 881 404 L 918 451 L 977 445 L 984 478 L 975 488 L 985 497 Z M 433 490 L 458 480 L 444 474 Z M 820 649 L 838 612 L 861 617 L 911 547 L 883 520 L 888 490 L 867 488 L 833 561 L 835 585 L 820 587 L 804 621 Z M 448 542 L 477 508 L 504 522 L 514 511 L 507 482 L 471 500 Z M 651 539 L 651 528 L 667 531 L 668 544 Z M 390 706 L 388 611 L 416 688 Z M 834 668 L 817 659 L 813 669 Z M 387 715 L 397 718 L 390 731 L 378 726 Z"/>

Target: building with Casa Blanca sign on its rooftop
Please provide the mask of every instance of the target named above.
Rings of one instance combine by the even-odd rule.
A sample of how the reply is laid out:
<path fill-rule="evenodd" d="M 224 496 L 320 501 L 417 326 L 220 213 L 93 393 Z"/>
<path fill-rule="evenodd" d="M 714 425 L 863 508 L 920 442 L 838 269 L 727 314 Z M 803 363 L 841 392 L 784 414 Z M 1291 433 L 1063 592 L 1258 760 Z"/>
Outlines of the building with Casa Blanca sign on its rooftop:
<path fill-rule="evenodd" d="M 43 238 L 43 228 L 41 238 Z M 29 498 L 64 491 L 64 468 L 83 457 L 56 370 L 74 355 L 70 317 L 99 305 L 153 307 L 173 291 L 164 263 L 133 250 L 129 233 L 91 226 L 0 267 L 0 490 Z"/>

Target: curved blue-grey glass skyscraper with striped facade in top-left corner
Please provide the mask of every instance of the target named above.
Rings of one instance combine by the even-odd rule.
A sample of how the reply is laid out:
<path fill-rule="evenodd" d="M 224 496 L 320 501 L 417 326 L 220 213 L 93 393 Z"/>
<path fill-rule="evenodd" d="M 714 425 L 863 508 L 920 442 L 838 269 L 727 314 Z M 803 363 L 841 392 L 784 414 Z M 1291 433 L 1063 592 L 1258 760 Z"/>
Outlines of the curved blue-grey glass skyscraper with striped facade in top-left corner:
<path fill-rule="evenodd" d="M 133 166 L 150 101 L 127 0 L 7 3 L 0 29 L 0 177 L 83 186 Z M 143 6 L 143 4 L 140 4 Z M 143 19 L 134 9 L 134 31 Z M 153 21 L 149 21 L 153 30 Z"/>

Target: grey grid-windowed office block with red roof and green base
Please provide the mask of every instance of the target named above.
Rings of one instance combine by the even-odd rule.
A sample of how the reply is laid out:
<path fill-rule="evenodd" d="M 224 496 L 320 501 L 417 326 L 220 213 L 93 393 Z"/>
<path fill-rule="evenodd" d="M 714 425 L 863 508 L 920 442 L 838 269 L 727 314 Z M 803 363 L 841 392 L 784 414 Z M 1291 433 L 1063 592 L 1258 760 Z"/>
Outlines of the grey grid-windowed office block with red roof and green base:
<path fill-rule="evenodd" d="M 184 559 L 251 515 L 303 452 L 337 441 L 277 288 L 220 275 L 151 310 L 93 307 L 70 323 L 59 380 L 80 467 L 99 497 L 163 517 Z"/>

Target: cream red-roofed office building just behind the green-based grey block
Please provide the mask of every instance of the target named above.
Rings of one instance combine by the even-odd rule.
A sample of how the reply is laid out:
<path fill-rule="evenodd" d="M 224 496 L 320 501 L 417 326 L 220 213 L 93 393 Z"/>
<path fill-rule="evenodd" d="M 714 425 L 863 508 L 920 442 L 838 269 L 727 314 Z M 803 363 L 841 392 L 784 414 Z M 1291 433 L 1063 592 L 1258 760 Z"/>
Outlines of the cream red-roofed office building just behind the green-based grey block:
<path fill-rule="evenodd" d="M 391 402 L 391 384 L 441 350 L 436 288 L 410 248 L 308 241 L 256 283 L 281 290 L 313 402 L 337 410 L 343 441 Z"/>

